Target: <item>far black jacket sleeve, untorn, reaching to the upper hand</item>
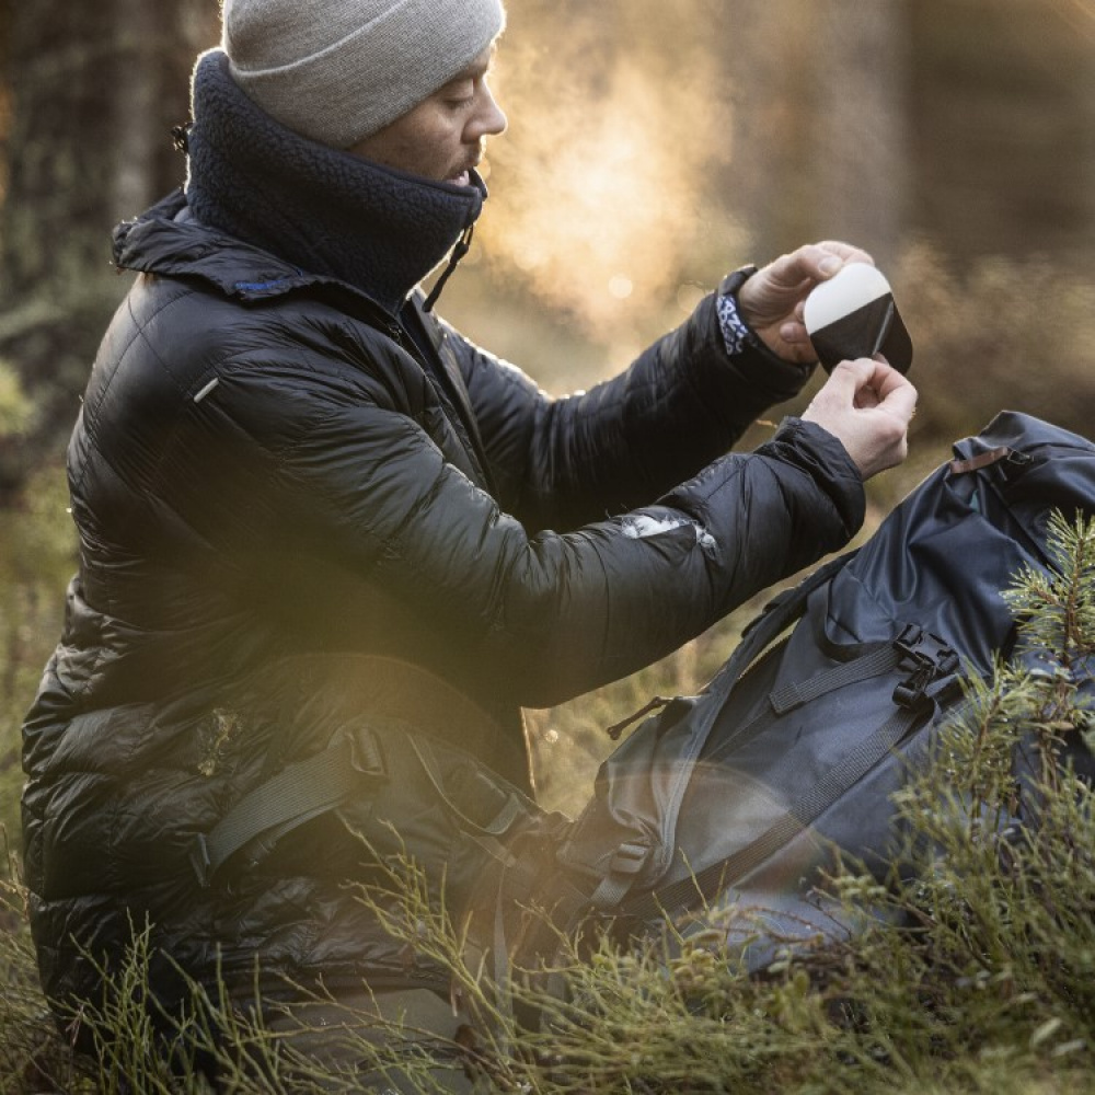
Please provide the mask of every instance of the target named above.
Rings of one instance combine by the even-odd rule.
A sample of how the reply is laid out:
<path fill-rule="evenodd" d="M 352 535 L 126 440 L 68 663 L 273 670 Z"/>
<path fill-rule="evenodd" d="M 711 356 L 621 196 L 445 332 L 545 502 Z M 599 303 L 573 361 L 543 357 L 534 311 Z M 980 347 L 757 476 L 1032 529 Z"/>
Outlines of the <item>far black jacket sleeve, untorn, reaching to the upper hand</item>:
<path fill-rule="evenodd" d="M 710 296 L 677 331 L 588 392 L 551 399 L 446 328 L 503 504 L 530 528 L 576 528 L 653 502 L 728 451 L 810 369 L 763 347 L 727 355 Z"/>

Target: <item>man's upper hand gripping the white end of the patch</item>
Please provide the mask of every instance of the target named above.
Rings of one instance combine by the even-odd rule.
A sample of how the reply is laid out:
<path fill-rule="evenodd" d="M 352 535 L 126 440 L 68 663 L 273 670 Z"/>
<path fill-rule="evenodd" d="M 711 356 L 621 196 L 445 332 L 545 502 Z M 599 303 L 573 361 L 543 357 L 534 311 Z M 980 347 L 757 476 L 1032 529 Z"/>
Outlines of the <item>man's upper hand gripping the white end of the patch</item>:
<path fill-rule="evenodd" d="M 808 243 L 769 263 L 738 291 L 741 319 L 770 350 L 800 365 L 817 360 L 803 323 L 803 306 L 809 291 L 831 278 L 845 263 L 871 263 L 865 251 L 827 240 Z"/>

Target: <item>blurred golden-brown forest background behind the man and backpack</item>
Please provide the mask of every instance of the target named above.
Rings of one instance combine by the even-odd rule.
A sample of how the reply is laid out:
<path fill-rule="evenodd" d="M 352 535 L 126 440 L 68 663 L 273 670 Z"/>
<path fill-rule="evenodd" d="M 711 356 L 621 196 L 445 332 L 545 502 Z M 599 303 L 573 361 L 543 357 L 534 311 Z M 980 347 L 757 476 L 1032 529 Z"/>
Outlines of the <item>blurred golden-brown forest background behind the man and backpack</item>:
<path fill-rule="evenodd" d="M 13 837 L 19 723 L 73 566 L 65 442 L 128 286 L 110 231 L 182 182 L 169 130 L 217 21 L 216 0 L 0 0 L 0 822 Z M 873 519 L 1002 407 L 1095 428 L 1095 0 L 509 0 L 495 88 L 510 130 L 440 310 L 549 391 L 624 366 L 728 269 L 840 238 L 889 275 L 917 346 L 913 456 L 872 484 Z M 701 684 L 727 627 L 534 713 L 549 802 L 584 797 L 585 781 L 558 774 L 589 772 L 600 726 Z"/>

